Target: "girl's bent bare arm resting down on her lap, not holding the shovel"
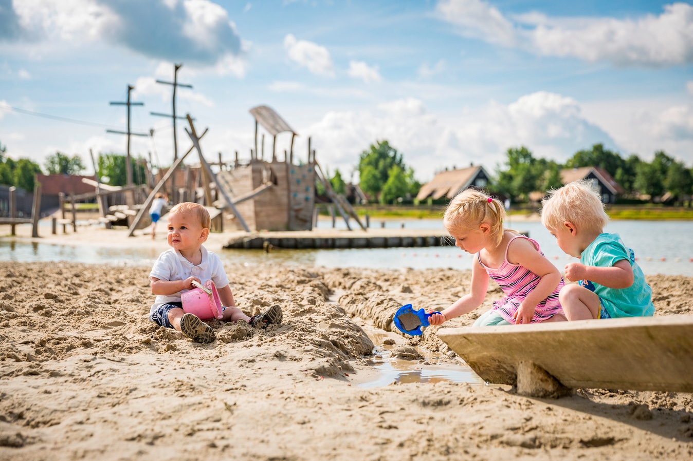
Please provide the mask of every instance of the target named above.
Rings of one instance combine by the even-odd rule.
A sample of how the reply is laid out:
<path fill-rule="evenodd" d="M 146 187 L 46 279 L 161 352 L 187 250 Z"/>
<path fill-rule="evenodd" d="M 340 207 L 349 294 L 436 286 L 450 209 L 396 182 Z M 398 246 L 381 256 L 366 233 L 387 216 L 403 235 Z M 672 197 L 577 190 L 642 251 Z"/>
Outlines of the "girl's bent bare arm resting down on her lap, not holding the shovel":
<path fill-rule="evenodd" d="M 541 280 L 520 303 L 515 313 L 515 323 L 526 324 L 532 321 L 536 305 L 545 300 L 561 282 L 561 273 L 549 260 L 541 255 L 527 239 L 514 239 L 508 248 L 508 261 L 520 264 L 536 273 Z"/>

